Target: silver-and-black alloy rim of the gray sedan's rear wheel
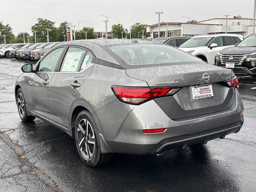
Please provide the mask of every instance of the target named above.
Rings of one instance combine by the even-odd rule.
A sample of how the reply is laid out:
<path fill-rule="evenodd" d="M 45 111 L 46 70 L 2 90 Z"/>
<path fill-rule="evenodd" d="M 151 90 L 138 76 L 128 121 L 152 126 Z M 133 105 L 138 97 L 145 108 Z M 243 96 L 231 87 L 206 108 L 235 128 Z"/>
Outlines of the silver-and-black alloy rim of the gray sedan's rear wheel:
<path fill-rule="evenodd" d="M 91 158 L 95 151 L 95 136 L 88 120 L 80 120 L 77 129 L 77 139 L 82 155 L 86 158 Z"/>

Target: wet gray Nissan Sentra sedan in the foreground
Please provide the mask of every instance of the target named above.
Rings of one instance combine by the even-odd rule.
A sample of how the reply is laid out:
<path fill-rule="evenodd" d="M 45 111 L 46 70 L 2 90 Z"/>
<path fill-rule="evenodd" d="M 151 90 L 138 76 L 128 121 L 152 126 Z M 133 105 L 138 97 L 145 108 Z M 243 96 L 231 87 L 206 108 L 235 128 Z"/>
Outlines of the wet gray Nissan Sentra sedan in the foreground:
<path fill-rule="evenodd" d="M 243 104 L 232 70 L 140 40 L 58 44 L 15 85 L 20 118 L 69 134 L 89 166 L 113 153 L 161 154 L 240 130 Z"/>

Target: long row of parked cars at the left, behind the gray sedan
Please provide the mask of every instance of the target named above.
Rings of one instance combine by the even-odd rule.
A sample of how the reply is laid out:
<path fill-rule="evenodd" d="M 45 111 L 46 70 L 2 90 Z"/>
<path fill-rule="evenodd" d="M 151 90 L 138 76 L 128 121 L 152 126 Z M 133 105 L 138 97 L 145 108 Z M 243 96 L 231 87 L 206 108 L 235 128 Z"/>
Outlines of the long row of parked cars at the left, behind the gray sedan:
<path fill-rule="evenodd" d="M 39 60 L 48 50 L 58 43 L 59 42 L 0 45 L 0 56 L 24 60 Z"/>

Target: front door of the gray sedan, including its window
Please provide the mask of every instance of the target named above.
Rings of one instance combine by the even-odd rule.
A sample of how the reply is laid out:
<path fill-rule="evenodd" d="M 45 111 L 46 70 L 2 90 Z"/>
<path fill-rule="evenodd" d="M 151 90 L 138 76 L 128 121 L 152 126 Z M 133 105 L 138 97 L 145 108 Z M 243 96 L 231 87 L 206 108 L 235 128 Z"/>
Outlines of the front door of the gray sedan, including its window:
<path fill-rule="evenodd" d="M 45 56 L 36 67 L 36 72 L 28 81 L 28 106 L 30 111 L 51 119 L 48 102 L 48 86 L 54 76 L 56 65 L 64 47 L 57 48 Z"/>

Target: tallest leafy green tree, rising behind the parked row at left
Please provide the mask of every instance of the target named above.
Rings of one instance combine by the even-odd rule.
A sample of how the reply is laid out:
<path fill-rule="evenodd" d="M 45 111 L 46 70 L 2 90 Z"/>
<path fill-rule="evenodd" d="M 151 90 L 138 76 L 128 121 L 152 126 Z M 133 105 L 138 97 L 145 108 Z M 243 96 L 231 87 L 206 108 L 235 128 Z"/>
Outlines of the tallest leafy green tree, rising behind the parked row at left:
<path fill-rule="evenodd" d="M 49 39 L 52 42 L 58 41 L 58 29 L 55 27 L 55 22 L 47 19 L 38 18 L 37 23 L 31 27 L 32 31 L 36 32 L 36 42 L 47 41 L 47 30 L 49 29 Z M 34 39 L 34 38 L 33 38 Z"/>

